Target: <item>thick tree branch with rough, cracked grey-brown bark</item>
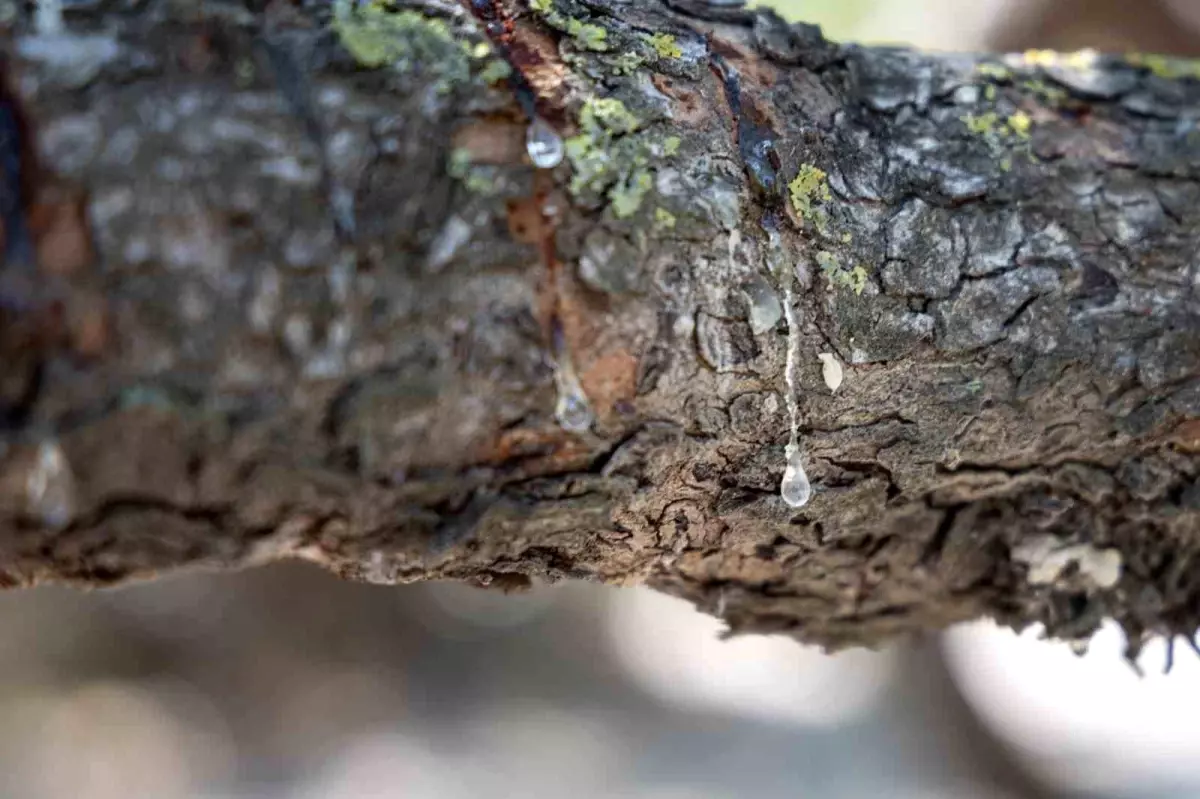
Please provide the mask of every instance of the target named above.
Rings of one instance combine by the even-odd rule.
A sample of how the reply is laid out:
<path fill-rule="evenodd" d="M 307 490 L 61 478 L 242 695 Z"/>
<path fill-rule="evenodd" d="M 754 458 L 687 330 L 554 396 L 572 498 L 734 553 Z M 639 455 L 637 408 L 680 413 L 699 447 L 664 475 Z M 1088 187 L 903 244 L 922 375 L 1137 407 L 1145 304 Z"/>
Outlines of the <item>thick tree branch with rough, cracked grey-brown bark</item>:
<path fill-rule="evenodd" d="M 298 557 L 833 647 L 1196 629 L 1194 64 L 684 0 L 71 4 L 8 49 L 7 585 Z"/>

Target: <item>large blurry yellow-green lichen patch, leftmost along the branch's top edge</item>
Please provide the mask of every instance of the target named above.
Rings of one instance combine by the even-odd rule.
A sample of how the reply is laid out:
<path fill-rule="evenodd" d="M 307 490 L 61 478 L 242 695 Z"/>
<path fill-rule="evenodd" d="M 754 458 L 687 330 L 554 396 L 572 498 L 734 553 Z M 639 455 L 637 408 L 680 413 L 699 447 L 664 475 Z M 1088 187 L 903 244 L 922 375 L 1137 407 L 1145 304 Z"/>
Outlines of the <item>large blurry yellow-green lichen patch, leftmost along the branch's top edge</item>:
<path fill-rule="evenodd" d="M 470 77 L 472 53 L 455 40 L 444 19 L 410 8 L 397 11 L 384 0 L 364 5 L 338 0 L 334 7 L 334 30 L 354 60 L 365 67 L 391 66 L 408 72 L 433 65 L 439 91 Z"/>

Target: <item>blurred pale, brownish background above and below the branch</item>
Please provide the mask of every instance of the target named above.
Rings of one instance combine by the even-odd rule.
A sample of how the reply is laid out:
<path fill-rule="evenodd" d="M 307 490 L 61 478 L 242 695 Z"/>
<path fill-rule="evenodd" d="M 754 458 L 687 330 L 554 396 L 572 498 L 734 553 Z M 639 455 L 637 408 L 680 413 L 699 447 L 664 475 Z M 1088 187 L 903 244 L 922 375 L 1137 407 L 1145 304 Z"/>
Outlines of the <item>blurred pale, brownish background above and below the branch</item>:
<path fill-rule="evenodd" d="M 786 0 L 840 40 L 1200 50 L 1195 0 Z M 0 594 L 0 797 L 1194 799 L 1200 660 L 988 624 L 827 656 L 641 589 L 312 567 Z"/>

